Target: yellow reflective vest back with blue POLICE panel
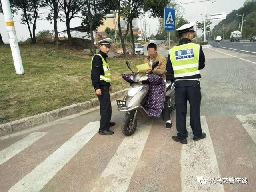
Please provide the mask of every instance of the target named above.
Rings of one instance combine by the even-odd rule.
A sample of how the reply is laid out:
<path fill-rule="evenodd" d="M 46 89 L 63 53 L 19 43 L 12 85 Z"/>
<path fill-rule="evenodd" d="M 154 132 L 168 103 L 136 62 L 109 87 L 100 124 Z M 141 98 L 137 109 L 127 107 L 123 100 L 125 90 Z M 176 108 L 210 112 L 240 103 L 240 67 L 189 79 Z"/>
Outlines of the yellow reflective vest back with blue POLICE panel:
<path fill-rule="evenodd" d="M 199 50 L 200 45 L 195 43 L 175 46 L 169 50 L 175 78 L 200 74 Z"/>

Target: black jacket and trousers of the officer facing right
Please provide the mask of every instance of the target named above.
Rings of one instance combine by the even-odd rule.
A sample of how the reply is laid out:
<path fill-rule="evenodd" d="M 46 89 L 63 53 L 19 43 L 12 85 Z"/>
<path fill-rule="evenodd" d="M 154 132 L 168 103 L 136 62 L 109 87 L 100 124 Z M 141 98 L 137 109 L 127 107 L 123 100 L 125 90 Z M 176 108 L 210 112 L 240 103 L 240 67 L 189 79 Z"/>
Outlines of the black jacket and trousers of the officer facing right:
<path fill-rule="evenodd" d="M 104 60 L 107 62 L 108 55 L 102 51 L 99 51 L 99 54 L 102 55 Z M 102 58 L 98 55 L 95 55 L 92 60 L 92 71 L 91 79 L 94 89 L 101 89 L 101 95 L 97 95 L 100 101 L 100 130 L 108 131 L 110 127 L 111 120 L 111 100 L 109 94 L 110 83 L 100 80 L 100 75 L 105 75 L 103 70 Z"/>

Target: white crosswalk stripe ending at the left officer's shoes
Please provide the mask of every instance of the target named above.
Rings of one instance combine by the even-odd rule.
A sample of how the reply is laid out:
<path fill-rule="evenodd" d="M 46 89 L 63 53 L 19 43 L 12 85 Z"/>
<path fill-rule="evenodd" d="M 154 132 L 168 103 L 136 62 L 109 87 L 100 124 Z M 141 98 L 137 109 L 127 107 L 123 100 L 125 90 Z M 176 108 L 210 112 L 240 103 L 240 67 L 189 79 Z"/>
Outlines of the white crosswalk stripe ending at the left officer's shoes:
<path fill-rule="evenodd" d="M 16 183 L 9 192 L 39 192 L 98 132 L 100 122 L 90 122 L 64 143 L 32 172 Z"/>

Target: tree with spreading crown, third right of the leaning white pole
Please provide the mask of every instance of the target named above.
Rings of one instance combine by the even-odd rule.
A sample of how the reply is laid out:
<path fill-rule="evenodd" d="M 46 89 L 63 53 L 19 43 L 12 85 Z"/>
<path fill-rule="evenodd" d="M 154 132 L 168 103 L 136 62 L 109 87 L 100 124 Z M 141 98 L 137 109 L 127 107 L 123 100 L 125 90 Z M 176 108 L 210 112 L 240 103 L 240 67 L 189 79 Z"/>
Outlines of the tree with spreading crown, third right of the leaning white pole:
<path fill-rule="evenodd" d="M 67 34 L 68 34 L 68 46 L 72 46 L 72 36 L 70 33 L 70 21 L 73 18 L 80 17 L 79 15 L 81 9 L 86 5 L 85 0 L 63 0 L 60 4 L 62 12 L 59 16 L 60 20 L 66 23 Z"/>

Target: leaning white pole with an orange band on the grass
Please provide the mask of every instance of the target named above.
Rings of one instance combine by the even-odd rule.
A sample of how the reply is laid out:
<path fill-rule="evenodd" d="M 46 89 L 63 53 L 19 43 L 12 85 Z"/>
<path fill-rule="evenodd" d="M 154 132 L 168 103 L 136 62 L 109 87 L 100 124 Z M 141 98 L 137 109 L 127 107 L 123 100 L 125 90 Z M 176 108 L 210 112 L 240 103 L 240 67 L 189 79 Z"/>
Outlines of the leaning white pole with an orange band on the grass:
<path fill-rule="evenodd" d="M 9 0 L 1 0 L 1 2 L 2 2 L 2 8 L 4 13 L 4 19 L 6 22 L 6 28 L 9 36 L 10 46 L 12 50 L 12 58 L 14 61 L 15 71 L 16 71 L 16 74 L 22 75 L 24 74 L 24 69 L 23 69 L 22 60 L 20 56 L 20 48 L 19 48 L 19 44 L 16 36 L 14 22 L 12 19 L 10 2 Z"/>

